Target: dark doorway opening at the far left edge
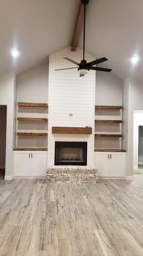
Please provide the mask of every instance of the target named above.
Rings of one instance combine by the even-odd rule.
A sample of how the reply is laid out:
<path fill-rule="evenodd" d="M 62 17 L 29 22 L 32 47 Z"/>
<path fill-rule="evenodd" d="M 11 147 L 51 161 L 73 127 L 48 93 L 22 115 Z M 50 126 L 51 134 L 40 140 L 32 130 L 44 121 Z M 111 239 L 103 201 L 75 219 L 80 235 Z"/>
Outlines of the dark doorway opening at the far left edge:
<path fill-rule="evenodd" d="M 7 131 L 7 106 L 5 105 L 0 105 L 0 120 L 0 179 L 4 179 Z"/>

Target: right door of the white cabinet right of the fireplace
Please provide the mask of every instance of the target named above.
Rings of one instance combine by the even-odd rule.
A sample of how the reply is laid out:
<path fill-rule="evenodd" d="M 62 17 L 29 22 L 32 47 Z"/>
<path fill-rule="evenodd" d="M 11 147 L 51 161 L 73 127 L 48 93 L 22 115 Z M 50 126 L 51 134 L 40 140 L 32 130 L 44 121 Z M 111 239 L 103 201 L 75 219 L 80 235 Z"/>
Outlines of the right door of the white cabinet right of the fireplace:
<path fill-rule="evenodd" d="M 124 177 L 125 176 L 125 155 L 119 153 L 110 153 L 110 176 Z"/>

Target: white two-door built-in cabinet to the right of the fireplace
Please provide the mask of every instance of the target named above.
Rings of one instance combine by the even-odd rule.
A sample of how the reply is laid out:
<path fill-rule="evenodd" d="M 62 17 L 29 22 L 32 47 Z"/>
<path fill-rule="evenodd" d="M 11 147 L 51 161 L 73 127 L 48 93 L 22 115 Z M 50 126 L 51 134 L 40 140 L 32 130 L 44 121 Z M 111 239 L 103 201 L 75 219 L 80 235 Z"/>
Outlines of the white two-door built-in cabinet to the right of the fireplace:
<path fill-rule="evenodd" d="M 95 166 L 98 176 L 125 177 L 125 152 L 95 152 Z"/>

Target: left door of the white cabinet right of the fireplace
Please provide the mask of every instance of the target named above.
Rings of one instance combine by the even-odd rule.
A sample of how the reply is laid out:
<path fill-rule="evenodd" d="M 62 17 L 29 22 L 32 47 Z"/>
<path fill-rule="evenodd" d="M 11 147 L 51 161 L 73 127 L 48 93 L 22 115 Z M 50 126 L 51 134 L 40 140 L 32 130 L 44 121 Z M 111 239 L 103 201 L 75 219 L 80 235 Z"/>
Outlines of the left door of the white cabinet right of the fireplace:
<path fill-rule="evenodd" d="M 98 168 L 98 176 L 109 176 L 109 162 L 108 153 L 95 154 L 95 166 Z"/>

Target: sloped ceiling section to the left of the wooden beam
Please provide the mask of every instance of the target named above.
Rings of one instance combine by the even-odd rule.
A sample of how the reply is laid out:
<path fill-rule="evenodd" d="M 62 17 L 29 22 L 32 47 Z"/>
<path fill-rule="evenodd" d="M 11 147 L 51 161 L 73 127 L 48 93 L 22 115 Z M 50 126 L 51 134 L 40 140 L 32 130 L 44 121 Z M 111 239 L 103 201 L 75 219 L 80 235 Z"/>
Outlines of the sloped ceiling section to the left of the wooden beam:
<path fill-rule="evenodd" d="M 0 73 L 20 73 L 66 48 L 78 13 L 77 0 L 1 0 Z M 21 55 L 13 63 L 10 49 Z"/>

